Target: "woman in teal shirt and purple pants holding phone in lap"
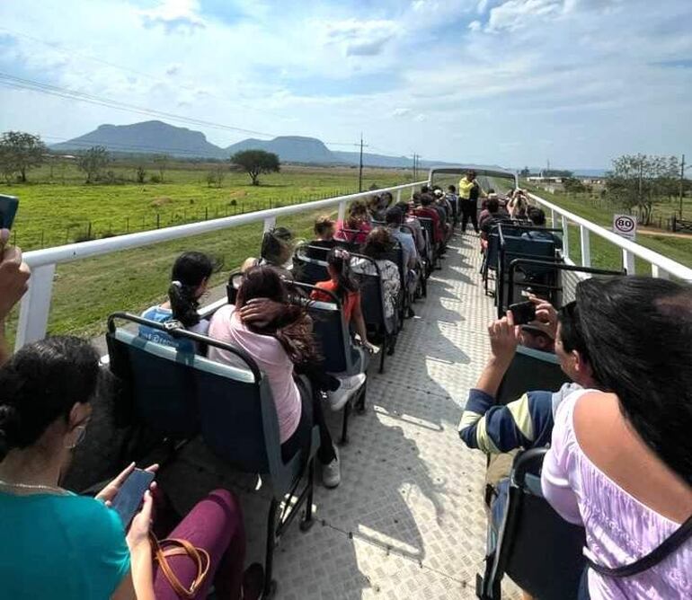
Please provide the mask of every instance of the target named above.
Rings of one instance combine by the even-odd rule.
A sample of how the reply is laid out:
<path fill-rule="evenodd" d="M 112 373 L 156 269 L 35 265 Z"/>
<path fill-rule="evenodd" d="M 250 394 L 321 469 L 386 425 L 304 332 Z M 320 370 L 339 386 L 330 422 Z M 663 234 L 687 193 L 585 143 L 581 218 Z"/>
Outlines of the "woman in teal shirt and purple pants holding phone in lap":
<path fill-rule="evenodd" d="M 98 354 L 71 337 L 25 346 L 0 369 L 0 577 L 6 598 L 180 597 L 152 560 L 151 491 L 127 533 L 110 507 L 134 463 L 95 498 L 60 487 L 84 439 L 99 384 Z M 243 575 L 243 516 L 230 492 L 211 492 L 170 536 L 208 552 L 208 576 L 195 597 L 206 597 L 212 584 L 219 598 L 260 597 L 262 567 Z M 197 576 L 194 562 L 168 564 L 189 589 Z"/>

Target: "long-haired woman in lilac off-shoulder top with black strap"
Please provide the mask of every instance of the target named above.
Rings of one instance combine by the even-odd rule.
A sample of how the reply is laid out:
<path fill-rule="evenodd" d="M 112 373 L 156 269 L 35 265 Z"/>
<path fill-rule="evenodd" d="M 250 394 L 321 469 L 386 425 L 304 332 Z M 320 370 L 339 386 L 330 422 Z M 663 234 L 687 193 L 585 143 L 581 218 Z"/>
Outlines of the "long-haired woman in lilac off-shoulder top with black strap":
<path fill-rule="evenodd" d="M 555 415 L 542 484 L 584 525 L 586 598 L 692 598 L 692 536 L 628 577 L 692 516 L 692 289 L 656 278 L 588 279 L 578 326 L 610 393 L 573 393 Z M 571 359 L 558 330 L 555 352 Z"/>

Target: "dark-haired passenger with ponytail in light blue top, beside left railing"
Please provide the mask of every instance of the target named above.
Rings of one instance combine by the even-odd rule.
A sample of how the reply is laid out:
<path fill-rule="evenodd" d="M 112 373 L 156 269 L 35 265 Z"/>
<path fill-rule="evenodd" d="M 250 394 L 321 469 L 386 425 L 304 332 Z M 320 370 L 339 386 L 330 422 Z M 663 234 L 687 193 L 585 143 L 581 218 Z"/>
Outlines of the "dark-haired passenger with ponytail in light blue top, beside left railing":
<path fill-rule="evenodd" d="M 202 252 L 184 252 L 173 263 L 168 300 L 155 304 L 142 313 L 142 318 L 160 323 L 177 321 L 188 331 L 206 335 L 209 322 L 198 313 L 200 298 L 207 293 L 209 278 L 218 270 L 215 260 Z M 172 346 L 181 352 L 199 350 L 191 340 L 176 339 L 165 331 L 146 325 L 139 326 L 139 337 L 164 346 Z"/>

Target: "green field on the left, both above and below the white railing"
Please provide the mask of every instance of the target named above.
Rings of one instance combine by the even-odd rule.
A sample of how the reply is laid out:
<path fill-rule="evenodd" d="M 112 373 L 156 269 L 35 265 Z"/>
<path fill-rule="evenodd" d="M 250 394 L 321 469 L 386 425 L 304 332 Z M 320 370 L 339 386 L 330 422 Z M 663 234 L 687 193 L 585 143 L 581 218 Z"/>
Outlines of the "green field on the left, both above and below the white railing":
<path fill-rule="evenodd" d="M 27 185 L 0 186 L 0 193 L 20 198 L 20 210 L 14 231 L 23 250 L 36 247 L 37 236 L 44 232 L 44 245 L 65 243 L 65 230 L 70 224 L 92 221 L 92 233 L 101 237 L 108 229 L 104 223 L 113 224 L 113 233 L 124 233 L 125 219 L 130 219 L 130 231 L 142 229 L 141 219 L 146 219 L 146 229 L 155 227 L 155 210 L 152 203 L 169 199 L 161 207 L 162 214 L 186 208 L 200 211 L 208 207 L 208 218 L 216 211 L 211 207 L 226 206 L 218 216 L 233 215 L 244 209 L 306 202 L 334 196 L 338 193 L 358 191 L 358 171 L 348 168 L 300 168 L 286 167 L 282 172 L 262 178 L 262 186 L 248 184 L 249 178 L 237 173 L 226 176 L 223 187 L 208 188 L 204 178 L 208 169 L 171 169 L 165 173 L 164 183 L 136 183 L 93 185 L 66 177 L 66 182 L 36 182 L 45 179 L 46 170 L 31 172 L 33 182 Z M 77 175 L 77 173 L 72 173 Z M 371 185 L 386 187 L 411 181 L 410 172 L 393 170 L 364 170 L 364 189 Z M 80 175 L 77 175 L 81 177 Z M 407 179 L 408 176 L 408 179 Z M 229 203 L 236 200 L 235 207 Z M 193 202 L 192 202 L 193 201 Z M 278 225 L 288 226 L 297 237 L 311 234 L 312 224 L 318 212 L 307 212 L 279 220 Z M 154 215 L 154 223 L 152 223 Z M 199 216 L 187 220 L 200 220 Z M 161 218 L 161 217 L 160 217 Z M 203 216 L 202 216 L 203 218 Z M 182 219 L 169 222 L 161 219 L 160 225 L 178 225 Z M 120 223 L 116 229 L 115 224 Z M 135 226 L 139 225 L 139 226 Z M 84 225 L 82 231 L 84 232 Z M 107 225 L 106 225 L 107 226 Z M 74 230 L 77 227 L 73 227 Z M 49 231 L 52 232 L 49 237 Z M 224 262 L 224 269 L 213 283 L 226 280 L 228 272 L 248 256 L 256 256 L 260 250 L 262 224 L 235 227 L 226 232 L 204 234 L 180 241 L 159 243 L 146 248 L 120 251 L 89 260 L 58 265 L 53 287 L 53 299 L 49 316 L 49 333 L 75 333 L 93 336 L 104 331 L 109 313 L 127 309 L 140 311 L 150 304 L 163 300 L 170 282 L 173 260 L 182 251 L 206 251 Z M 74 239 L 74 238 L 72 238 Z M 69 241 L 72 241 L 69 239 Z M 47 243 L 49 241 L 49 243 Z M 10 322 L 10 332 L 13 324 Z"/>

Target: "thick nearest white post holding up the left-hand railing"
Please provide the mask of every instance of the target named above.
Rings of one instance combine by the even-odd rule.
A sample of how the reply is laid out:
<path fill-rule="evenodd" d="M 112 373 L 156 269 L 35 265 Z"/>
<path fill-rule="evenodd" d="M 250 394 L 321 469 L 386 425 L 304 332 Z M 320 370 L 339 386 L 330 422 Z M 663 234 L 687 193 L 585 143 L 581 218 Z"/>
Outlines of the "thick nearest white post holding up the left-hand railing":
<path fill-rule="evenodd" d="M 29 290 L 22 298 L 19 311 L 17 336 L 14 341 L 15 350 L 46 337 L 54 275 L 55 264 L 41 265 L 31 269 Z"/>

